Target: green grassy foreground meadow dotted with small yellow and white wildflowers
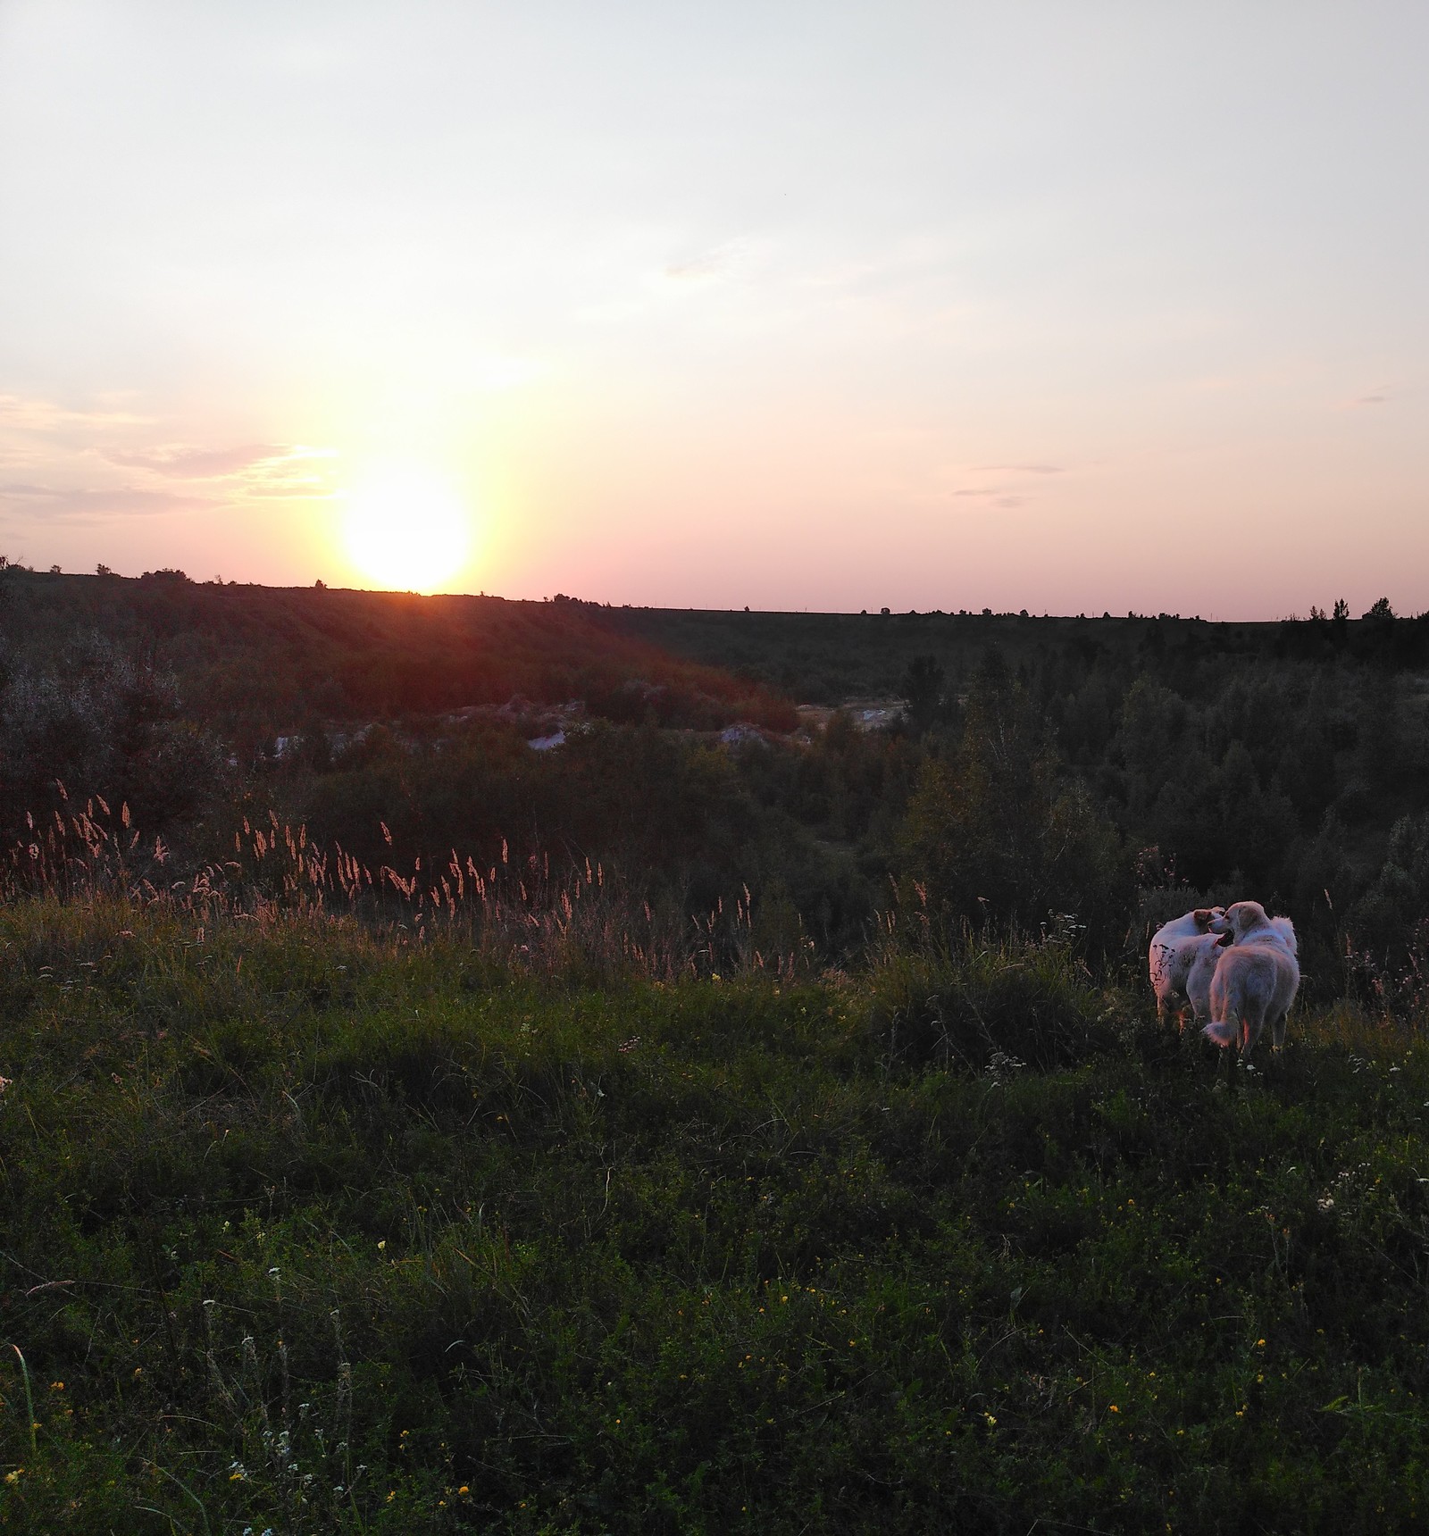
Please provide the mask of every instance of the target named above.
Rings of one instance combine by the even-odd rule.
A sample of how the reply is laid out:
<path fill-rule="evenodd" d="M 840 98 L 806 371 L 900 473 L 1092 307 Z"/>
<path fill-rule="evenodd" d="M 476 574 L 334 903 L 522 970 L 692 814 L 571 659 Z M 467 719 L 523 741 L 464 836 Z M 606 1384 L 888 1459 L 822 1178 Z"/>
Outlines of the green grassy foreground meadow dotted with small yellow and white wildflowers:
<path fill-rule="evenodd" d="M 1429 1057 L 1291 1041 L 1228 1080 L 1056 943 L 14 900 L 0 1527 L 1417 1528 Z"/>

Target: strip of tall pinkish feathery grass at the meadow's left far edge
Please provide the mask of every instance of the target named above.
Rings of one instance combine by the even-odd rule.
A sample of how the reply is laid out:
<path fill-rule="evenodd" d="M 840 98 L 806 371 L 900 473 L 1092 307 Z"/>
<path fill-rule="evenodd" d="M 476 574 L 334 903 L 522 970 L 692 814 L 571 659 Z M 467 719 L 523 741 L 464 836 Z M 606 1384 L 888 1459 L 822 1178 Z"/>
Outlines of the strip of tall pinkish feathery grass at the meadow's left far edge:
<path fill-rule="evenodd" d="M 719 897 L 704 914 L 652 902 L 601 863 L 552 863 L 549 852 L 513 860 L 502 839 L 498 863 L 478 866 L 455 848 L 446 860 L 418 856 L 407 868 L 375 868 L 341 843 L 312 842 L 304 825 L 269 811 L 243 819 L 232 856 L 183 876 L 161 839 L 152 843 L 98 797 L 40 822 L 0 865 L 0 899 L 38 897 L 91 905 L 115 897 L 164 908 L 204 925 L 244 920 L 260 926 L 297 915 L 304 922 L 358 922 L 395 942 L 456 938 L 484 960 L 536 974 L 642 975 L 675 980 L 744 971 L 793 978 L 808 974 L 813 942 L 796 922 L 765 925 L 748 886 Z M 383 825 L 387 845 L 392 834 Z M 175 877 L 177 876 L 177 877 Z"/>

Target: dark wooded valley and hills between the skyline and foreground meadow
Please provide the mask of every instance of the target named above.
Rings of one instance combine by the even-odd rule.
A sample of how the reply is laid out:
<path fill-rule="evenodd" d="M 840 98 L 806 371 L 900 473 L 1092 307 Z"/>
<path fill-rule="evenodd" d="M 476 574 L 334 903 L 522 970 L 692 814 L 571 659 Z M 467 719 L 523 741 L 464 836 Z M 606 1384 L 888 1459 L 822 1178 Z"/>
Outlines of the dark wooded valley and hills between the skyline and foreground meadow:
<path fill-rule="evenodd" d="M 879 730 L 842 708 L 876 699 L 902 702 Z M 596 860 L 688 915 L 748 891 L 770 945 L 827 962 L 919 922 L 1060 925 L 1120 963 L 1252 895 L 1309 992 L 1409 1006 L 1426 711 L 1429 614 L 1388 602 L 699 613 L 0 570 L 15 849 L 104 796 L 186 879 L 272 811 L 364 860 Z"/>

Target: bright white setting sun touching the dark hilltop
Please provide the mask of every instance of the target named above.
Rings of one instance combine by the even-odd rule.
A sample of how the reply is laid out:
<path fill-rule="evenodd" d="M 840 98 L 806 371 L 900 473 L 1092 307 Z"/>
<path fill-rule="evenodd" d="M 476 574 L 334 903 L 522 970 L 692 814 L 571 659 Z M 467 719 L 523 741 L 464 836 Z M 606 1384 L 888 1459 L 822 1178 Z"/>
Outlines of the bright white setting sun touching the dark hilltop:
<path fill-rule="evenodd" d="M 347 496 L 352 564 L 387 591 L 438 591 L 472 550 L 472 513 L 456 490 L 419 468 L 387 468 Z"/>

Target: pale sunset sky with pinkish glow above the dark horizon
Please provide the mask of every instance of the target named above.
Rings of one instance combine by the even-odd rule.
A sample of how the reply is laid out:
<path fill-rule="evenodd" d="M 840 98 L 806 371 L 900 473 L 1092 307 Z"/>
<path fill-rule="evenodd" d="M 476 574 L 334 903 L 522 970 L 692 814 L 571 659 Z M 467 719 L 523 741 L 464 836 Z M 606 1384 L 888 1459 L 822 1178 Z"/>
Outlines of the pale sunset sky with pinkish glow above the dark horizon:
<path fill-rule="evenodd" d="M 0 553 L 1429 608 L 1429 9 L 0 0 Z"/>

